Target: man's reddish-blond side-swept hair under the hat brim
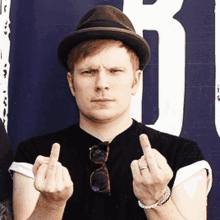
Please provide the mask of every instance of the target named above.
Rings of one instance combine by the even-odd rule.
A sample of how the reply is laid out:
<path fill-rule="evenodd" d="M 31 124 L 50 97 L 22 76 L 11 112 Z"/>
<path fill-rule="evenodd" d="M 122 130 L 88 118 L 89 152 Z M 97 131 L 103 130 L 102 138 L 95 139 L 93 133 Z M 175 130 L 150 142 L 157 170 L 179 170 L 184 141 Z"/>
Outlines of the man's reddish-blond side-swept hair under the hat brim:
<path fill-rule="evenodd" d="M 77 63 L 79 60 L 91 54 L 96 55 L 104 48 L 110 46 L 118 46 L 121 48 L 126 48 L 131 59 L 133 71 L 139 70 L 139 58 L 137 54 L 130 47 L 128 47 L 127 45 L 123 44 L 121 41 L 118 40 L 96 39 L 96 40 L 89 40 L 82 42 L 70 51 L 67 60 L 67 64 L 70 69 L 70 72 L 71 73 L 74 72 L 74 64 Z"/>

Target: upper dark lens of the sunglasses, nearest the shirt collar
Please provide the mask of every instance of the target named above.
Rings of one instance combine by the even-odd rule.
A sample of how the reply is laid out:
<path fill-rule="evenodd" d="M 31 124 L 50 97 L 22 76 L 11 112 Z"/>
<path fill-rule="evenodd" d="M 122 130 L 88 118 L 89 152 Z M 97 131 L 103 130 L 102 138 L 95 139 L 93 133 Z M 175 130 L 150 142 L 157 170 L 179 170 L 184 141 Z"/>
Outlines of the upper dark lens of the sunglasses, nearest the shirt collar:
<path fill-rule="evenodd" d="M 96 145 L 91 150 L 91 159 L 93 162 L 104 163 L 107 155 L 106 145 Z"/>

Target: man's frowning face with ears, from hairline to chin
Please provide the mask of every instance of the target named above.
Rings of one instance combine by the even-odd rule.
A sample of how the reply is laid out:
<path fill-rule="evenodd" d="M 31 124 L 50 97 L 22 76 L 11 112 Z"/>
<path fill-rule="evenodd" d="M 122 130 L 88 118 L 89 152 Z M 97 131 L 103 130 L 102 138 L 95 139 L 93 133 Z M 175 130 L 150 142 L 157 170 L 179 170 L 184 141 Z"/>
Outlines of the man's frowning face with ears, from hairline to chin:
<path fill-rule="evenodd" d="M 125 48 L 109 46 L 74 65 L 68 83 L 80 117 L 96 122 L 130 117 L 130 101 L 138 88 L 141 71 L 133 71 Z"/>

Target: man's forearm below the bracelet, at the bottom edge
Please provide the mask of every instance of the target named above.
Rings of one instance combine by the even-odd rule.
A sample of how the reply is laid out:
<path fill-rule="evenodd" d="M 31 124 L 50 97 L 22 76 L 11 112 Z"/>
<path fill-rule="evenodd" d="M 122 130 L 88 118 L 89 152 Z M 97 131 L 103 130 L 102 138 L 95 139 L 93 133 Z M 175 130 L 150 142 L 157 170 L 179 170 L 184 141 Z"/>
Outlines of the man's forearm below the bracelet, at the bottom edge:
<path fill-rule="evenodd" d="M 154 209 L 145 209 L 144 211 L 148 220 L 186 220 L 171 198 L 162 206 L 157 206 Z"/>

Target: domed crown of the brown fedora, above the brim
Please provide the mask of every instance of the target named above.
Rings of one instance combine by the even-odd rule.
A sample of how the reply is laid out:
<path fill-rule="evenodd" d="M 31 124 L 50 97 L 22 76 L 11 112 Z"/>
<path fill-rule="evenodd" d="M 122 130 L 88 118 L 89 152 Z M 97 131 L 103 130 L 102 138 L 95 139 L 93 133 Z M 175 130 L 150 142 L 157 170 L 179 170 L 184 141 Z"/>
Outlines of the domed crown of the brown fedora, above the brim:
<path fill-rule="evenodd" d="M 92 27 L 118 27 L 135 32 L 128 17 L 111 5 L 92 8 L 80 20 L 76 30 Z"/>

